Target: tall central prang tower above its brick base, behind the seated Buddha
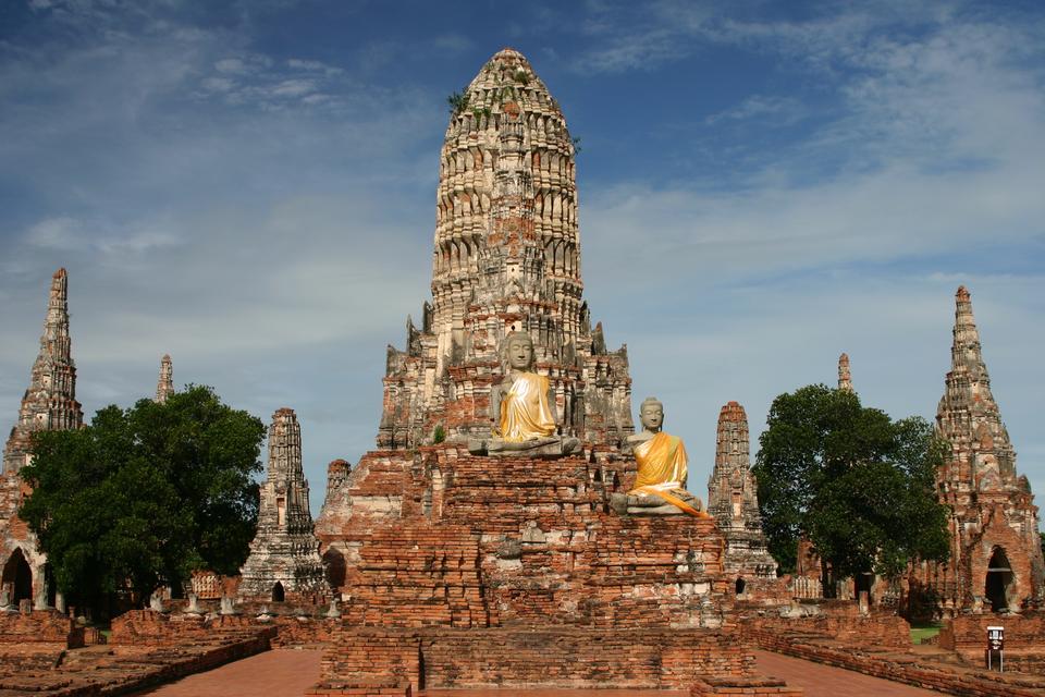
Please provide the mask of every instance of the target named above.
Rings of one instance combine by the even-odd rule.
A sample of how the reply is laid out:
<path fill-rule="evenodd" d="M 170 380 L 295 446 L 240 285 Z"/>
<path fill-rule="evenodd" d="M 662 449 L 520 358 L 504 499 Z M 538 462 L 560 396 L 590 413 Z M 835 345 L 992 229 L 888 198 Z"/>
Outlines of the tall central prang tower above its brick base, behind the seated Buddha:
<path fill-rule="evenodd" d="M 512 331 L 533 339 L 564 436 L 632 433 L 627 350 L 606 352 L 581 294 L 576 148 L 521 53 L 497 52 L 452 99 L 440 160 L 432 303 L 389 347 L 378 445 L 490 433 L 490 388 Z"/>

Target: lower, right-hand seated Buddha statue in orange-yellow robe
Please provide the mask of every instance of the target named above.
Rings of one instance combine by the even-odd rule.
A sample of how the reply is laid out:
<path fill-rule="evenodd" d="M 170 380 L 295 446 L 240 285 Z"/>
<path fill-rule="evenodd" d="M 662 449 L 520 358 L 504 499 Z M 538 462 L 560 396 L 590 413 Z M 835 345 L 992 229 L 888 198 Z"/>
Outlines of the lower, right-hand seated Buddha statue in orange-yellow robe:
<path fill-rule="evenodd" d="M 615 493 L 611 505 L 631 515 L 672 515 L 686 513 L 709 517 L 700 499 L 686 490 L 686 448 L 680 438 L 661 430 L 664 405 L 647 398 L 639 407 L 642 432 L 629 436 L 625 443 L 635 453 L 638 475 L 627 493 Z"/>

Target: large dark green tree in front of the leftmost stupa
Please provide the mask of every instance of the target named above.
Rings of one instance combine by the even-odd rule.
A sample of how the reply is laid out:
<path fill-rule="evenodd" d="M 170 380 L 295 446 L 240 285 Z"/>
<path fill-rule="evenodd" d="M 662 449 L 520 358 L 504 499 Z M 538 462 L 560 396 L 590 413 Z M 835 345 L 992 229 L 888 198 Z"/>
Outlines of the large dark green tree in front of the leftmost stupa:
<path fill-rule="evenodd" d="M 177 592 L 194 570 L 231 574 L 245 561 L 263 437 L 259 419 L 206 387 L 107 406 L 85 428 L 36 435 L 20 515 L 81 607 Z"/>

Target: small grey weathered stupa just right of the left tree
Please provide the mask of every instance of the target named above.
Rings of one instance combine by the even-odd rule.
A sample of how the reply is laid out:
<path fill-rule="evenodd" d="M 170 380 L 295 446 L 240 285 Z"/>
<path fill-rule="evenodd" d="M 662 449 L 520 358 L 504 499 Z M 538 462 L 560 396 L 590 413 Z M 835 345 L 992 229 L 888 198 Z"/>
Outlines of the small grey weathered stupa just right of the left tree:
<path fill-rule="evenodd" d="M 294 409 L 281 408 L 272 415 L 258 531 L 239 573 L 239 597 L 244 599 L 315 602 L 330 595 L 308 510 L 302 427 Z"/>

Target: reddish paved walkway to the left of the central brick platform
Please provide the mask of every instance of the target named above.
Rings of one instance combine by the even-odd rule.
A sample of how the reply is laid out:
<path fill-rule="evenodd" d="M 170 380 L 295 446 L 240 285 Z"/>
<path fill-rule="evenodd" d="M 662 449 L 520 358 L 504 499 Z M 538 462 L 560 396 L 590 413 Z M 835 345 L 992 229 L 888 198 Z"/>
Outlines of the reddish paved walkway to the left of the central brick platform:
<path fill-rule="evenodd" d="M 319 681 L 321 649 L 278 649 L 189 675 L 150 697 L 302 697 Z"/>

